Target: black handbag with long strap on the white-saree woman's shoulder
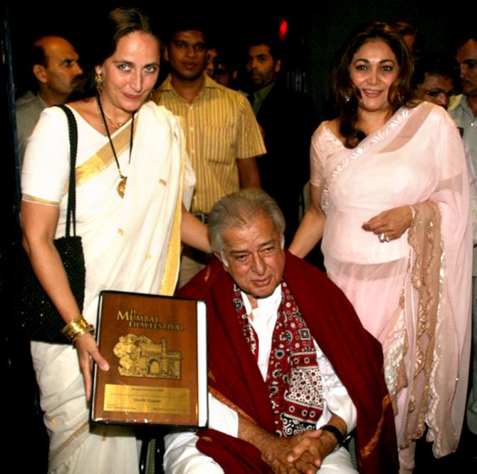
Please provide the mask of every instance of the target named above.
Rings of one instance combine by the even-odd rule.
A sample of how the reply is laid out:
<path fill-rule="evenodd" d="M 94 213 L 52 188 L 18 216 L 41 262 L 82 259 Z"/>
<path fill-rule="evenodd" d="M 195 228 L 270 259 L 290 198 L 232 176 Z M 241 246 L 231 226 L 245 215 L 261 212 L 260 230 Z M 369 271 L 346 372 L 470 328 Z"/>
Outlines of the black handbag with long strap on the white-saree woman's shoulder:
<path fill-rule="evenodd" d="M 68 185 L 68 208 L 66 212 L 65 237 L 54 240 L 58 254 L 65 267 L 71 292 L 83 312 L 85 298 L 85 258 L 81 237 L 76 235 L 76 183 L 75 165 L 78 145 L 78 127 L 73 112 L 65 105 L 61 107 L 68 117 L 70 134 L 70 182 Z M 70 225 L 73 223 L 73 235 Z M 14 282 L 13 317 L 11 331 L 24 334 L 37 341 L 70 344 L 61 329 L 65 321 L 46 294 L 31 268 L 30 259 L 21 244 L 16 244 L 16 281 Z"/>

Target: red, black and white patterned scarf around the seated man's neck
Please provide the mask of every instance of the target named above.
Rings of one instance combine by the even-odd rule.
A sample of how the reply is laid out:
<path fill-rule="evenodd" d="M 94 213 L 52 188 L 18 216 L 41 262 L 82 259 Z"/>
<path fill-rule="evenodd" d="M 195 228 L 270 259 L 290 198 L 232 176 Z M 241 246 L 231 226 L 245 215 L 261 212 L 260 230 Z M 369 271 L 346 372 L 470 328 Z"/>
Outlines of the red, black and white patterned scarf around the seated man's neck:
<path fill-rule="evenodd" d="M 282 300 L 273 329 L 266 383 L 275 416 L 276 432 L 292 436 L 316 428 L 323 411 L 323 384 L 313 338 L 295 299 L 282 281 Z M 258 339 L 248 321 L 240 289 L 234 304 L 243 336 L 258 360 Z"/>

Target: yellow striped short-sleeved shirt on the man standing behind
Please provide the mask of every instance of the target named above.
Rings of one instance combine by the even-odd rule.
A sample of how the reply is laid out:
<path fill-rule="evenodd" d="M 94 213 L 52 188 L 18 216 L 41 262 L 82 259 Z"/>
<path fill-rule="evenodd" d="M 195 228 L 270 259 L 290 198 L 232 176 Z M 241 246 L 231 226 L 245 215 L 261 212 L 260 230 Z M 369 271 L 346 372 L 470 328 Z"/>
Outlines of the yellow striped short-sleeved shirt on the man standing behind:
<path fill-rule="evenodd" d="M 210 212 L 221 197 L 240 189 L 236 160 L 266 153 L 250 103 L 206 75 L 192 103 L 174 91 L 170 75 L 154 101 L 181 118 L 196 173 L 192 212 Z"/>

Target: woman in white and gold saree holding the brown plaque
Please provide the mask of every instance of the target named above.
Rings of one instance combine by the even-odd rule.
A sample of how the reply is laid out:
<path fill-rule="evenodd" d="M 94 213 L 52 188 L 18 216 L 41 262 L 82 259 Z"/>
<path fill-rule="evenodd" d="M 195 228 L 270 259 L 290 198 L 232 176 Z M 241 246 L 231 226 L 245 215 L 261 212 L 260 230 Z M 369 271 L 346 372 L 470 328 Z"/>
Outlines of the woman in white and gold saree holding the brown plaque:
<path fill-rule="evenodd" d="M 68 104 L 78 125 L 76 232 L 86 267 L 83 315 L 53 245 L 65 232 L 70 163 L 63 110 L 41 114 L 21 175 L 24 246 L 74 344 L 31 344 L 52 473 L 137 472 L 134 433 L 88 423 L 92 362 L 109 369 L 91 334 L 98 294 L 115 289 L 170 295 L 181 239 L 209 250 L 206 228 L 182 205 L 194 175 L 179 121 L 145 103 L 159 73 L 159 39 L 147 17 L 132 8 L 112 11 L 95 34 L 104 36 L 95 43 L 95 91 Z"/>

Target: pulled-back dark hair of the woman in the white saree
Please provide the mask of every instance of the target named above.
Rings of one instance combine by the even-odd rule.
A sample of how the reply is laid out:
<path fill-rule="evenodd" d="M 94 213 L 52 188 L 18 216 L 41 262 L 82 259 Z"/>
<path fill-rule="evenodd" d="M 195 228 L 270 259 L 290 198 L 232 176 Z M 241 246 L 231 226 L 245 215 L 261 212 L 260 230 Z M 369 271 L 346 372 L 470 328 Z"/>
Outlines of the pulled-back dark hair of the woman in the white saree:
<path fill-rule="evenodd" d="M 121 6 L 109 12 L 105 21 L 95 28 L 99 36 L 95 41 L 93 51 L 90 51 L 90 64 L 93 66 L 85 76 L 83 86 L 77 97 L 93 96 L 95 88 L 95 66 L 103 64 L 116 51 L 117 43 L 123 36 L 135 31 L 147 33 L 157 38 L 159 49 L 162 44 L 154 33 L 150 19 L 140 9 L 131 6 Z"/>

